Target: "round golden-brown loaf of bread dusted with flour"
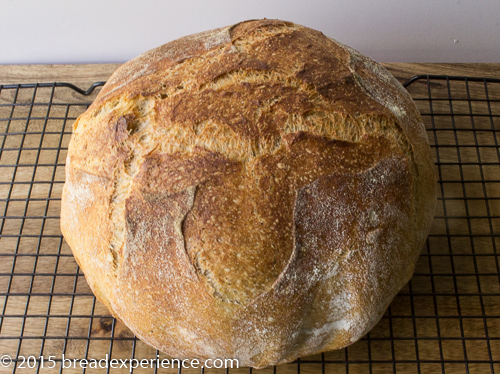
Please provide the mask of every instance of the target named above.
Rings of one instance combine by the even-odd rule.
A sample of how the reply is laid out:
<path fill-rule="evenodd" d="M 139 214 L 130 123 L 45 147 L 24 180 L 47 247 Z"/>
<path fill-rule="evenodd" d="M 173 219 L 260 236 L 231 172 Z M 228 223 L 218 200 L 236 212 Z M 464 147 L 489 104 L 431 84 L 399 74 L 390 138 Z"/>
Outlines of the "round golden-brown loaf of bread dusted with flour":
<path fill-rule="evenodd" d="M 413 274 L 426 132 L 380 65 L 279 20 L 121 66 L 73 126 L 61 229 L 95 295 L 177 358 L 345 347 Z"/>

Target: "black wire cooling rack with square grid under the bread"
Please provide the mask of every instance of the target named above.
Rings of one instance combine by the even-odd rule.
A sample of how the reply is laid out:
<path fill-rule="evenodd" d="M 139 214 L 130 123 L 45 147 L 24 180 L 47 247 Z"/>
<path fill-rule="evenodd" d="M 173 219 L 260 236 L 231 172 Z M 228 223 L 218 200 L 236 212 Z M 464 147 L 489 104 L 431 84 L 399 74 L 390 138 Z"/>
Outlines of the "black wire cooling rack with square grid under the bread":
<path fill-rule="evenodd" d="M 101 85 L 0 86 L 0 354 L 14 360 L 0 372 L 96 371 L 63 368 L 63 355 L 167 357 L 96 301 L 59 230 L 71 125 Z M 436 216 L 415 276 L 359 342 L 259 372 L 500 372 L 500 80 L 425 75 L 405 86 L 439 169 Z M 55 368 L 42 367 L 40 356 L 54 356 Z"/>

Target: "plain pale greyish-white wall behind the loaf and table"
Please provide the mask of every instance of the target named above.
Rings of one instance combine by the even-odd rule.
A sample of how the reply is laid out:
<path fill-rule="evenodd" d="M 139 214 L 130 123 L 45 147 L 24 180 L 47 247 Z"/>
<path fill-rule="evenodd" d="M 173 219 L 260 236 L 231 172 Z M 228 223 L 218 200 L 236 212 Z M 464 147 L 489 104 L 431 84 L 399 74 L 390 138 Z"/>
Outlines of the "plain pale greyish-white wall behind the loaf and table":
<path fill-rule="evenodd" d="M 500 62 L 499 0 L 0 0 L 0 64 L 125 62 L 264 17 L 321 30 L 380 62 Z"/>

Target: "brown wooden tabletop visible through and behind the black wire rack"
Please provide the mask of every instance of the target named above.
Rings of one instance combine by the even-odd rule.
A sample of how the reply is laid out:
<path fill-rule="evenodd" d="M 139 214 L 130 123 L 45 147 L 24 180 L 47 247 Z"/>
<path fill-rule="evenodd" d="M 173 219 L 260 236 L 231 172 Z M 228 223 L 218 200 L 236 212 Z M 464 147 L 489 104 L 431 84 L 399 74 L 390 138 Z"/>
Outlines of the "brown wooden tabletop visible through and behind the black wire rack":
<path fill-rule="evenodd" d="M 385 63 L 384 65 L 401 82 L 417 74 L 500 78 L 500 64 Z M 118 66 L 119 64 L 4 65 L 0 66 L 0 84 L 57 81 L 69 82 L 81 88 L 87 88 L 93 82 L 105 81 Z M 480 89 L 477 89 L 478 93 Z M 424 86 L 415 85 L 415 87 L 412 87 L 412 90 L 412 94 L 418 95 L 420 91 L 424 90 Z M 473 88 L 473 94 L 475 93 L 474 90 L 475 88 Z M 1 93 L 1 95 L 4 94 L 3 92 Z M 7 102 L 9 98 L 2 99 L 3 96 L 1 95 L 0 104 Z M 41 95 L 43 96 L 44 94 L 41 93 Z M 491 98 L 500 101 L 500 89 L 492 89 Z M 73 101 L 81 100 L 82 102 L 89 100 L 89 98 L 76 98 L 76 95 L 72 99 Z M 436 103 L 436 105 L 438 104 Z M 419 105 L 421 105 L 419 106 L 421 111 L 427 110 L 425 102 Z M 467 103 L 459 101 L 455 105 L 457 111 L 461 109 L 467 110 Z M 63 109 L 54 108 L 55 114 L 59 113 L 59 115 L 63 116 Z M 22 108 L 19 108 L 19 110 L 22 110 Z M 57 112 L 58 110 L 61 112 Z M 439 110 L 439 107 L 436 107 L 436 110 Z M 483 108 L 479 110 L 483 111 L 482 114 L 487 114 L 487 109 Z M 23 114 L 23 112 L 20 113 L 20 115 Z M 78 112 L 75 112 L 74 115 L 78 115 Z M 4 110 L 0 107 L 0 118 L 8 116 L 7 109 Z M 426 121 L 426 125 L 428 127 L 431 126 L 429 119 Z M 470 119 L 457 117 L 456 124 L 470 127 Z M 5 123 L 0 123 L 0 126 L 5 126 Z M 12 126 L 15 126 L 15 124 Z M 45 129 L 44 126 L 46 124 L 44 125 L 43 121 L 33 120 L 30 123 L 31 130 L 38 129 L 37 131 L 41 131 Z M 478 126 L 482 125 L 479 123 Z M 486 123 L 484 126 L 490 125 Z M 478 135 L 475 138 L 476 146 L 484 144 L 491 148 L 492 144 L 498 144 L 491 140 L 491 134 L 493 134 L 493 137 L 496 136 L 498 138 L 497 134 L 500 129 L 500 123 L 493 122 L 492 120 L 491 127 L 492 129 L 485 130 L 484 134 L 477 132 Z M 65 131 L 70 131 L 70 128 L 71 123 L 66 124 Z M 5 131 L 5 127 L 0 128 L 0 133 Z M 12 129 L 9 131 L 12 131 Z M 22 131 L 22 129 L 19 131 Z M 449 137 L 448 133 L 443 133 L 442 138 L 440 138 L 441 134 L 432 138 L 432 132 L 429 132 L 431 144 L 439 141 L 440 146 L 451 146 L 451 148 L 443 148 L 439 154 L 436 153 L 440 157 L 440 162 L 443 163 L 441 178 L 446 180 L 479 178 L 479 174 L 475 169 L 469 170 L 464 167 L 463 170 L 460 169 L 462 171 L 459 171 L 457 168 L 452 167 L 456 161 L 454 147 L 456 147 L 457 138 L 453 138 L 453 136 Z M 459 134 L 460 136 L 462 135 Z M 17 144 L 15 143 L 15 137 L 7 138 L 9 139 L 7 139 L 5 147 L 14 149 Z M 69 136 L 64 135 L 62 143 L 60 143 L 60 140 L 59 135 L 51 135 L 50 137 L 47 135 L 43 140 L 43 146 L 49 149 L 47 152 L 38 152 L 37 154 L 36 152 L 29 153 L 23 151 L 21 159 L 18 158 L 18 152 L 5 151 L 3 153 L 2 158 L 0 158 L 0 166 L 14 165 L 16 162 L 26 165 L 34 163 L 51 165 L 56 162 L 58 166 L 47 168 L 40 166 L 36 171 L 36 178 L 50 180 L 50 178 L 55 176 L 56 180 L 61 181 L 61 184 L 54 185 L 53 190 L 49 192 L 41 187 L 39 188 L 39 185 L 35 185 L 33 190 L 29 190 L 28 192 L 27 187 L 25 189 L 21 188 L 23 185 L 20 185 L 21 187 L 15 190 L 9 190 L 9 185 L 0 185 L 0 209 L 5 208 L 7 217 L 21 217 L 26 214 L 33 216 L 58 216 L 60 207 L 58 198 L 60 197 L 62 180 L 64 179 L 65 151 L 58 151 L 57 148 L 60 148 L 61 145 L 63 147 L 67 146 Z M 459 140 L 462 141 L 462 138 L 459 138 Z M 500 139 L 497 140 L 500 141 Z M 463 141 L 466 141 L 466 139 Z M 23 147 L 36 148 L 39 147 L 39 144 L 40 136 L 38 138 L 26 137 Z M 494 148 L 490 151 L 490 148 L 488 148 L 488 152 L 482 155 L 481 162 L 487 163 L 491 168 L 481 168 L 481 173 L 483 173 L 481 175 L 484 179 L 498 180 L 500 179 L 498 151 L 495 152 Z M 462 162 L 470 161 L 468 157 L 471 158 L 470 160 L 474 164 L 473 154 L 464 153 Z M 459 175 L 461 172 L 465 174 Z M 15 174 L 16 181 L 21 182 L 32 181 L 35 175 L 33 168 L 4 167 L 0 173 L 0 182 L 12 180 L 13 173 Z M 402 290 L 402 293 L 391 306 L 392 317 L 382 319 L 379 325 L 370 333 L 371 338 L 375 340 L 370 343 L 369 347 L 367 346 L 367 341 L 364 340 L 348 349 L 349 360 L 359 361 L 358 366 L 353 365 L 349 367 L 350 373 L 368 372 L 368 364 L 366 364 L 369 357 L 367 356 L 368 354 L 371 355 L 370 357 L 374 361 L 373 364 L 370 364 L 370 368 L 374 372 L 392 372 L 393 366 L 388 362 L 391 360 L 400 361 L 398 363 L 398 370 L 402 372 L 415 372 L 417 367 L 415 363 L 416 351 L 419 352 L 418 360 L 422 361 L 421 364 L 418 364 L 418 368 L 423 372 L 441 372 L 444 366 L 440 364 L 440 361 L 443 359 L 447 360 L 447 372 L 465 372 L 464 362 L 468 360 L 470 361 L 469 369 L 471 372 L 490 372 L 492 366 L 484 364 L 484 361 L 488 359 L 494 362 L 492 365 L 500 372 L 500 286 L 498 277 L 494 276 L 495 272 L 497 272 L 495 259 L 498 266 L 498 258 L 495 257 L 497 256 L 496 246 L 500 246 L 500 242 L 495 242 L 496 239 L 492 239 L 492 242 L 485 241 L 485 236 L 488 238 L 488 232 L 494 234 L 493 236 L 498 239 L 500 234 L 500 219 L 495 218 L 481 221 L 478 225 L 478 230 L 483 229 L 482 232 L 485 232 L 486 235 L 477 235 L 476 238 L 474 237 L 475 232 L 471 232 L 471 230 L 476 230 L 476 226 L 474 226 L 475 222 L 472 222 L 467 217 L 467 215 L 473 214 L 485 216 L 486 211 L 483 208 L 485 201 L 489 207 L 488 214 L 492 217 L 500 217 L 499 185 L 500 183 L 490 183 L 477 191 L 473 188 L 470 191 L 467 190 L 467 198 L 477 199 L 471 205 L 467 202 L 464 205 L 464 200 L 467 200 L 467 198 L 460 195 L 465 194 L 465 191 L 460 191 L 460 184 L 455 187 L 450 185 L 450 190 L 446 190 L 446 193 L 450 196 L 462 196 L 462 198 L 458 197 L 455 203 L 455 200 L 451 200 L 446 212 L 443 211 L 444 204 L 438 204 L 435 224 L 431 232 L 431 235 L 433 235 L 432 240 L 429 240 L 430 244 L 427 248 L 427 256 L 424 249 L 421 261 L 417 265 L 416 276 L 411 282 L 412 288 L 409 289 L 408 287 L 410 286 L 407 285 Z M 444 192 L 444 190 L 442 191 Z M 486 191 L 488 196 L 496 197 L 497 199 L 488 202 L 485 197 Z M 9 196 L 9 199 L 18 198 L 22 200 L 26 199 L 27 194 L 29 194 L 30 199 L 39 197 L 41 202 L 33 200 L 28 206 L 25 201 L 13 201 L 10 203 L 8 209 L 6 208 L 6 196 Z M 50 200 L 50 205 L 47 200 L 44 200 L 47 198 L 47 194 L 49 194 L 49 198 L 53 199 Z M 488 205 L 489 203 L 491 205 Z M 2 206 L 1 204 L 4 205 Z M 469 227 L 467 225 L 460 226 L 459 224 L 457 226 L 448 225 L 448 222 L 442 219 L 446 214 L 464 218 L 469 223 Z M 135 357 L 138 358 L 154 357 L 154 350 L 141 342 L 135 344 L 130 340 L 133 335 L 123 324 L 118 322 L 116 325 L 111 326 L 111 319 L 107 317 L 107 310 L 98 302 L 94 304 L 94 299 L 81 273 L 76 275 L 78 284 L 73 283 L 75 275 L 72 274 L 76 274 L 76 264 L 71 257 L 71 251 L 67 244 L 59 237 L 60 231 L 57 219 L 47 220 L 44 227 L 40 227 L 38 221 L 31 222 L 31 220 L 26 220 L 23 223 L 24 226 L 20 228 L 14 221 L 7 219 L 7 223 L 3 226 L 2 234 L 12 235 L 13 237 L 0 238 L 0 252 L 13 254 L 17 248 L 16 253 L 24 253 L 26 256 L 18 256 L 15 260 L 14 272 L 18 276 L 10 278 L 8 274 L 13 269 L 12 258 L 2 257 L 0 259 L 0 274 L 2 274 L 0 276 L 0 292 L 3 292 L 2 295 L 4 295 L 4 318 L 3 324 L 0 325 L 0 353 L 16 354 L 20 339 L 16 339 L 15 337 L 31 336 L 31 339 L 21 339 L 21 354 L 38 355 L 40 354 L 41 344 L 44 344 L 43 352 L 46 355 L 51 354 L 58 357 L 64 351 L 67 356 L 75 358 L 82 358 L 85 354 L 88 354 L 89 357 L 101 358 L 105 353 L 112 351 L 115 358 L 130 358 L 132 350 L 135 352 Z M 488 224 L 489 229 L 481 228 L 482 226 L 488 226 Z M 26 232 L 31 232 L 35 235 L 34 237 L 16 238 L 16 235 L 19 236 L 20 232 L 23 235 Z M 36 237 L 36 234 L 39 232 L 43 232 L 45 236 L 42 243 Z M 474 248 L 472 250 L 470 248 L 474 244 L 473 239 L 470 239 L 471 236 L 474 237 L 474 240 L 477 239 L 478 243 L 484 239 L 481 242 L 482 244 L 477 244 L 475 247 L 476 251 L 480 251 L 484 255 L 483 257 L 476 259 L 473 256 L 475 252 Z M 449 255 L 450 251 L 461 254 L 461 256 L 451 256 Z M 47 256 L 30 257 L 34 253 L 44 253 Z M 430 256 L 431 253 L 435 254 L 435 257 Z M 65 257 L 60 257 L 59 254 L 63 254 Z M 429 269 L 430 266 L 432 266 L 432 270 Z M 30 273 L 33 273 L 33 269 L 36 269 L 36 273 L 39 274 L 36 277 L 30 275 Z M 452 274 L 453 272 L 467 273 L 468 271 L 472 275 L 475 274 L 474 271 L 486 275 L 458 277 Z M 432 277 L 432 280 L 429 280 L 431 277 L 425 276 L 429 272 L 440 275 Z M 57 276 L 55 273 L 57 273 Z M 478 296 L 478 288 L 480 286 L 482 287 L 480 292 L 484 292 L 484 296 Z M 76 298 L 58 296 L 66 295 L 66 293 L 69 295 L 75 292 L 82 293 L 85 296 L 78 296 Z M 459 296 L 458 293 L 461 293 L 461 295 Z M 13 295 L 7 297 L 5 296 L 6 294 Z M 34 296 L 30 296 L 31 294 Z M 467 297 L 469 298 L 467 299 L 468 301 L 466 300 Z M 27 306 L 27 300 L 29 301 L 29 307 Z M 479 301 L 481 302 L 479 303 Z M 0 308 L 2 308 L 1 298 Z M 51 316 L 50 318 L 44 317 L 48 314 L 48 311 Z M 436 317 L 436 313 L 439 313 L 443 318 L 439 320 L 434 318 Z M 26 314 L 32 315 L 33 318 L 30 317 L 24 320 L 23 316 Z M 418 317 L 411 317 L 413 314 L 416 314 Z M 466 317 L 463 317 L 463 315 L 466 315 Z M 394 316 L 399 317 L 396 318 Z M 470 318 L 467 318 L 467 316 Z M 484 318 L 485 316 L 488 318 Z M 388 324 L 389 320 L 391 321 L 390 327 Z M 396 340 L 387 339 L 389 330 L 391 334 L 397 337 Z M 89 342 L 86 338 L 88 334 L 96 339 Z M 112 348 L 110 348 L 111 340 L 109 339 L 111 334 L 119 338 L 118 340 L 114 340 Z M 486 339 L 485 334 L 488 334 L 487 337 L 494 338 L 494 340 L 490 341 Z M 41 339 L 36 338 L 42 335 L 53 338 L 44 339 L 42 343 Z M 61 339 L 61 336 L 70 336 L 74 337 L 74 339 Z M 437 336 L 444 336 L 445 339 L 437 339 Z M 7 337 L 8 339 L 1 339 L 2 337 Z M 83 339 L 79 339 L 79 337 L 83 337 Z M 422 340 L 416 341 L 415 337 Z M 470 340 L 468 340 L 469 337 Z M 417 344 L 418 347 L 416 347 Z M 464 350 L 467 352 L 467 357 L 464 357 Z M 346 359 L 346 355 L 345 350 L 340 350 L 327 353 L 324 357 L 325 359 L 341 362 Z M 313 357 L 312 360 L 321 360 L 321 357 Z M 334 373 L 337 371 L 343 372 L 344 370 L 345 364 L 340 363 L 337 366 L 333 364 L 328 366 L 326 372 Z M 319 373 L 321 372 L 321 365 L 318 366 L 318 364 L 314 363 L 304 364 L 301 366 L 301 371 Z M 183 370 L 183 372 L 185 371 Z M 188 372 L 191 371 L 188 370 Z M 198 373 L 199 370 L 193 370 L 192 372 Z M 246 373 L 247 371 L 243 370 L 242 372 Z M 271 373 L 272 371 L 269 372 Z M 280 368 L 280 373 L 296 372 L 296 365 L 291 364 Z"/>

